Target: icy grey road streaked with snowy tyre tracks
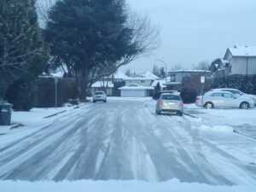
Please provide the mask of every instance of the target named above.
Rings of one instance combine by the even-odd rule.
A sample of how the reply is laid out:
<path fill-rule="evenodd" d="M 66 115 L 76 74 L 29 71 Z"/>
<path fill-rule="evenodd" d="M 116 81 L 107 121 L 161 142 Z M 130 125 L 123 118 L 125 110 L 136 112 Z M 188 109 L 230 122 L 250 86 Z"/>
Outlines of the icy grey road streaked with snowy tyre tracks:
<path fill-rule="evenodd" d="M 188 116 L 157 116 L 153 104 L 99 102 L 0 136 L 0 179 L 256 183 L 256 140 Z"/>

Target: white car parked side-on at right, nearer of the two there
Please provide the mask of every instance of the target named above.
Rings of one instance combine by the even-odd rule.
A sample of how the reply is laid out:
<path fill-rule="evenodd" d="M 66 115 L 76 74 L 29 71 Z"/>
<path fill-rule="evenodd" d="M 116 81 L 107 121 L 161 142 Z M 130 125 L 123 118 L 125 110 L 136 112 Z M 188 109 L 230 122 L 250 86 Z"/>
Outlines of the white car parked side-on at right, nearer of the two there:
<path fill-rule="evenodd" d="M 242 108 L 254 107 L 253 99 L 235 96 L 229 91 L 209 91 L 204 96 L 197 96 L 195 104 L 204 108 Z"/>

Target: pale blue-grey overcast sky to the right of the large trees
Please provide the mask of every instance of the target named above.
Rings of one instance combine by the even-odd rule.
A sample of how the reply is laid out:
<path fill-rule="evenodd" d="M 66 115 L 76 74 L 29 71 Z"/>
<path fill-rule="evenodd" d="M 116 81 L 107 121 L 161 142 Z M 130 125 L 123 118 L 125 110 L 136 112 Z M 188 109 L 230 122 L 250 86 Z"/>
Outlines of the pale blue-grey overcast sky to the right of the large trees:
<path fill-rule="evenodd" d="M 255 0 L 127 0 L 131 9 L 160 24 L 160 49 L 133 61 L 131 71 L 152 71 L 166 61 L 168 70 L 189 68 L 200 61 L 223 57 L 234 45 L 256 45 Z"/>

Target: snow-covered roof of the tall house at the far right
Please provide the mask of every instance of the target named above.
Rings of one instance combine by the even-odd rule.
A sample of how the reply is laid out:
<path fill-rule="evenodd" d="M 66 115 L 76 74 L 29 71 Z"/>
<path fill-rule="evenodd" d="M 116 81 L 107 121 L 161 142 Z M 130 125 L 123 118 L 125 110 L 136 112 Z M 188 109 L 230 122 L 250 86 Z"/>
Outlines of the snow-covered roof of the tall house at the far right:
<path fill-rule="evenodd" d="M 234 46 L 228 50 L 233 56 L 256 56 L 255 46 Z"/>

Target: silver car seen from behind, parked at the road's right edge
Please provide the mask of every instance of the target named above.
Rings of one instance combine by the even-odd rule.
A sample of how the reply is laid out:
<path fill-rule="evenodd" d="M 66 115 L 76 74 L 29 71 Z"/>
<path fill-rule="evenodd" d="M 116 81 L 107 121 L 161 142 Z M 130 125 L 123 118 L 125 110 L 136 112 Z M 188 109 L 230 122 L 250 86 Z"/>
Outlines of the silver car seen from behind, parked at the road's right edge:
<path fill-rule="evenodd" d="M 156 103 L 155 113 L 177 113 L 183 116 L 183 100 L 179 94 L 162 93 Z"/>

